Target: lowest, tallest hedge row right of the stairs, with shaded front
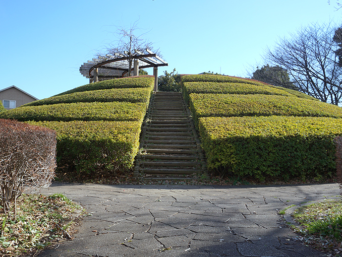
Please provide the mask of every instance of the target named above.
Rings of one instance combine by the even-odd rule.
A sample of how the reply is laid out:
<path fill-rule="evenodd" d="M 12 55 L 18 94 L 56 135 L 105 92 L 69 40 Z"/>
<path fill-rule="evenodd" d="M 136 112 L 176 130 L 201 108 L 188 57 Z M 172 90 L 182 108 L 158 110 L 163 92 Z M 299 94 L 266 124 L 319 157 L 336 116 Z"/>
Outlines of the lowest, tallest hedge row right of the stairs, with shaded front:
<path fill-rule="evenodd" d="M 207 117 L 199 131 L 208 168 L 221 174 L 327 178 L 336 173 L 342 120 L 323 117 Z"/>

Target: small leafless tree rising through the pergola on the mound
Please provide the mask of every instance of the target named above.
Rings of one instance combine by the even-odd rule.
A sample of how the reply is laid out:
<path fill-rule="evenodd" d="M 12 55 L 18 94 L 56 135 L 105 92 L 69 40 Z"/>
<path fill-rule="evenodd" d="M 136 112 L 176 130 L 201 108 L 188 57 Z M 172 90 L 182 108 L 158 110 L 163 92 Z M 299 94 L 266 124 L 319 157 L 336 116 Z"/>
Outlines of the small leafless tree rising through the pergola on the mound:
<path fill-rule="evenodd" d="M 117 30 L 113 32 L 117 40 L 114 40 L 106 49 L 106 53 L 98 53 L 97 55 L 101 59 L 107 61 L 109 59 L 127 57 L 128 61 L 128 76 L 131 75 L 133 60 L 138 55 L 149 54 L 147 50 L 152 51 L 159 57 L 162 57 L 159 49 L 154 50 L 152 43 L 144 39 L 146 33 L 136 34 L 137 27 L 136 22 L 131 25 L 129 29 L 124 27 L 117 27 Z"/>

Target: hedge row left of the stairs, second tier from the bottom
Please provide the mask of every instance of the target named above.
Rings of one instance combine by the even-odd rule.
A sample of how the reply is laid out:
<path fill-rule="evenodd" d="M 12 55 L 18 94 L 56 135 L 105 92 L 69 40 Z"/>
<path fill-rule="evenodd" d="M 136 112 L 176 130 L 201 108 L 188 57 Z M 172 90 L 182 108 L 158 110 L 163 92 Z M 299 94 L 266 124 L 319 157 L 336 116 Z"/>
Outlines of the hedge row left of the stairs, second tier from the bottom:
<path fill-rule="evenodd" d="M 0 113 L 18 121 L 140 121 L 148 103 L 70 103 L 25 106 Z"/>

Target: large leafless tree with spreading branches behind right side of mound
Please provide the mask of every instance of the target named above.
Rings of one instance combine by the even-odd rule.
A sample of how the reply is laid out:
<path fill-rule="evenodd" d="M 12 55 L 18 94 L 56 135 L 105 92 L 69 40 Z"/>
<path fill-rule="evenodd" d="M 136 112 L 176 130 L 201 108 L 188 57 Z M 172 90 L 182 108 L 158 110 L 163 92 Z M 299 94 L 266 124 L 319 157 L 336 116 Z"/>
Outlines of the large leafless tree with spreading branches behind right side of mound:
<path fill-rule="evenodd" d="M 342 97 L 342 68 L 333 40 L 332 24 L 302 27 L 290 38 L 280 39 L 268 49 L 266 61 L 284 68 L 299 91 L 338 105 Z"/>

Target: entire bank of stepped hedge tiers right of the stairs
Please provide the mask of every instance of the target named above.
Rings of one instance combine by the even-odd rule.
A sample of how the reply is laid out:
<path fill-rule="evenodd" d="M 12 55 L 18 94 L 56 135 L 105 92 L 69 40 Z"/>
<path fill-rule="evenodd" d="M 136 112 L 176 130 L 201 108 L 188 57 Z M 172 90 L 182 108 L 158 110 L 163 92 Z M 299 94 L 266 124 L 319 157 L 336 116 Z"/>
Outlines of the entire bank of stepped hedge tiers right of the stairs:
<path fill-rule="evenodd" d="M 325 181 L 336 174 L 334 139 L 342 134 L 342 108 L 294 90 L 242 80 L 182 77 L 208 168 L 221 176 L 261 181 Z"/>

